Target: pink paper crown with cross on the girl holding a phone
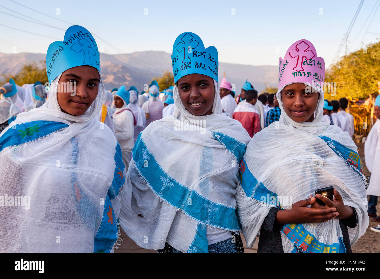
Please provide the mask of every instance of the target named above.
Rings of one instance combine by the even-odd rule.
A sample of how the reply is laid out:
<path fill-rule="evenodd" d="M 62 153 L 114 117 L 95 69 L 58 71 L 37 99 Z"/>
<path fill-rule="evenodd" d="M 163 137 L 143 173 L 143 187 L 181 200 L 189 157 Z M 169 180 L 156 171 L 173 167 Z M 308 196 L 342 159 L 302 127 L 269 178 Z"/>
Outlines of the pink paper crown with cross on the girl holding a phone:
<path fill-rule="evenodd" d="M 323 89 L 325 61 L 317 57 L 315 47 L 306 39 L 293 43 L 279 59 L 279 89 L 293 82 Z"/>

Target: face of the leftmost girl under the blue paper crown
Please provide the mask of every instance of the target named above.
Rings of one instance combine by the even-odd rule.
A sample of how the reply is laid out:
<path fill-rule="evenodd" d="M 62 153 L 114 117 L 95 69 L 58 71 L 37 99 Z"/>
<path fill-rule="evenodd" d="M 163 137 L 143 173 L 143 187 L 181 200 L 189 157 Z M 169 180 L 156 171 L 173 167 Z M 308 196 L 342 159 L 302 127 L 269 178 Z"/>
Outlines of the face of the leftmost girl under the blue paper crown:
<path fill-rule="evenodd" d="M 62 112 L 83 115 L 98 96 L 100 76 L 91 66 L 77 66 L 62 73 L 57 100 Z"/>

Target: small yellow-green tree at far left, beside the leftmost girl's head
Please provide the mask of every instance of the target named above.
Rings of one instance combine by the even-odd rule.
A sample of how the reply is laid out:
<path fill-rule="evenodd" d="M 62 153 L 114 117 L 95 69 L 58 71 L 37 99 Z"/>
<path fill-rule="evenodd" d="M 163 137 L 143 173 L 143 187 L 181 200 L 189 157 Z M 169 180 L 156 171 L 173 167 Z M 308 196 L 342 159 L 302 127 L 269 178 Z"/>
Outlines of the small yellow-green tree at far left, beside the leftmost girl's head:
<path fill-rule="evenodd" d="M 22 66 L 17 74 L 2 74 L 0 84 L 9 82 L 9 79 L 13 79 L 20 86 L 23 84 L 34 84 L 36 81 L 40 81 L 44 85 L 48 82 L 45 61 L 40 61 L 40 63 L 36 63 L 35 61 L 28 62 Z"/>

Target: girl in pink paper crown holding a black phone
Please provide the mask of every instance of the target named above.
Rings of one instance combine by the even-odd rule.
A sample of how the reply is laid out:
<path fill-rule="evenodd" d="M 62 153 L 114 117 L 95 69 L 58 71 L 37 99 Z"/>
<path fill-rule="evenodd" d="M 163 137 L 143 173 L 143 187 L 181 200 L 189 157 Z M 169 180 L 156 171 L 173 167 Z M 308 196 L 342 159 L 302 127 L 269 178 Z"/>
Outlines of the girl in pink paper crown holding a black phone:
<path fill-rule="evenodd" d="M 325 62 L 305 39 L 279 59 L 280 120 L 247 145 L 236 195 L 248 247 L 260 231 L 258 252 L 351 252 L 366 232 L 357 147 L 347 132 L 321 121 L 324 77 Z M 314 196 L 328 186 L 333 200 Z"/>

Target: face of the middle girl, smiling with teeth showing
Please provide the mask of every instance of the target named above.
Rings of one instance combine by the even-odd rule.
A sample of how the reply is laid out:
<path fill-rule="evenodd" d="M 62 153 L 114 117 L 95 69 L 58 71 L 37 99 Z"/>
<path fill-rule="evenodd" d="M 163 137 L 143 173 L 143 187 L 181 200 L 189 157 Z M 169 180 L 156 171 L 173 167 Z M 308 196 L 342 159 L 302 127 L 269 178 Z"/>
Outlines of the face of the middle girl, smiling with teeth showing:
<path fill-rule="evenodd" d="M 188 74 L 178 82 L 179 98 L 185 109 L 193 115 L 212 114 L 215 87 L 214 80 L 203 74 Z"/>

